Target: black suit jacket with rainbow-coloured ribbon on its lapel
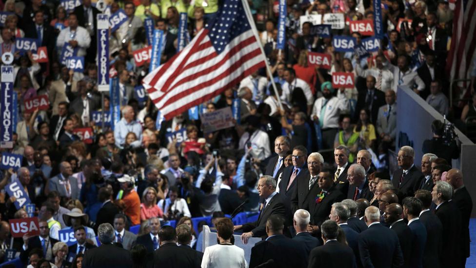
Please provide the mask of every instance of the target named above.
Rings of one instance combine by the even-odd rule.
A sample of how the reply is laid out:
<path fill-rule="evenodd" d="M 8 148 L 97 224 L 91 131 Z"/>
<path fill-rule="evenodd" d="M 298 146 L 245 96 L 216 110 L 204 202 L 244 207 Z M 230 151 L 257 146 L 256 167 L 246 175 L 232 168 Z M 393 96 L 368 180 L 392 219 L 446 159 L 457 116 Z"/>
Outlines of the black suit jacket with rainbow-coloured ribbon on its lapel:
<path fill-rule="evenodd" d="M 329 189 L 327 195 L 324 196 L 320 203 L 316 203 L 316 196 L 321 189 L 316 187 L 315 195 L 309 195 L 309 213 L 311 214 L 311 225 L 320 226 L 325 220 L 329 219 L 332 204 L 340 202 L 345 199 L 344 194 L 335 187 Z"/>

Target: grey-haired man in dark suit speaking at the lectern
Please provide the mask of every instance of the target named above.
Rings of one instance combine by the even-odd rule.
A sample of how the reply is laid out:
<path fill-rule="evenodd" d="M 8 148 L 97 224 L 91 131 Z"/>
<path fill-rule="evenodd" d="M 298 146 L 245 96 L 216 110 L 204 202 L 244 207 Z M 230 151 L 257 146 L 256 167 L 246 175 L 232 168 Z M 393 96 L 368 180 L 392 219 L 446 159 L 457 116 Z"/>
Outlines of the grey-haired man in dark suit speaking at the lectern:
<path fill-rule="evenodd" d="M 271 215 L 284 217 L 285 208 L 280 194 L 276 192 L 275 179 L 271 176 L 264 175 L 259 178 L 257 188 L 259 198 L 264 201 L 259 211 L 258 220 L 234 227 L 234 230 L 243 230 L 243 234 L 241 234 L 243 244 L 248 243 L 250 237 L 266 236 L 266 220 Z"/>

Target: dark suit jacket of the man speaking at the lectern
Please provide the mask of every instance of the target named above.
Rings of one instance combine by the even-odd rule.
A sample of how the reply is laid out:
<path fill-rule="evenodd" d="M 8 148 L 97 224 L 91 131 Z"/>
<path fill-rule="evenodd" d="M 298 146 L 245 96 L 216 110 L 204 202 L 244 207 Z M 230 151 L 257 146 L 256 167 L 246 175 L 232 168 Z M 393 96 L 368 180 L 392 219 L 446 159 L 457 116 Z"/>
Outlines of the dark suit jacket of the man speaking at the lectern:
<path fill-rule="evenodd" d="M 253 231 L 254 237 L 266 236 L 266 221 L 271 215 L 280 215 L 284 217 L 284 204 L 281 200 L 281 195 L 276 193 L 269 203 L 264 207 L 258 216 L 256 222 L 247 223 L 243 225 L 243 232 Z"/>

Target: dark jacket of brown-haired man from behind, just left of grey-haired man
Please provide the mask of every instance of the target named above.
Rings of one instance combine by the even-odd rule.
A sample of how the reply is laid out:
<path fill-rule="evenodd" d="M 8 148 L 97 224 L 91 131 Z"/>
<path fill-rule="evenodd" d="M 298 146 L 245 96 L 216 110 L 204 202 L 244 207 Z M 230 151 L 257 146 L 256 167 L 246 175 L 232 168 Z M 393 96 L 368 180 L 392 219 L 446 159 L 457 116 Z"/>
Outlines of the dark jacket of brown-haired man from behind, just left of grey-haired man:
<path fill-rule="evenodd" d="M 426 229 L 426 244 L 423 252 L 424 268 L 439 268 L 441 254 L 441 235 L 443 226 L 441 221 L 431 211 L 425 211 L 420 215 L 420 221 Z"/>

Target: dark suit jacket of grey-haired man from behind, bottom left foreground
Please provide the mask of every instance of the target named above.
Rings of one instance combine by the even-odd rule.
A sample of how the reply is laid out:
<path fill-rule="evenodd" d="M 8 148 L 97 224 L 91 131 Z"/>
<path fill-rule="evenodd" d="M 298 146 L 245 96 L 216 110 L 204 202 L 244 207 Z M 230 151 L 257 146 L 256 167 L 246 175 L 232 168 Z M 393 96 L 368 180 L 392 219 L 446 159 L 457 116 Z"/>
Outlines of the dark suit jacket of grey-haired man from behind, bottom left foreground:
<path fill-rule="evenodd" d="M 82 265 L 85 268 L 132 267 L 131 253 L 113 244 L 103 244 L 91 248 L 84 254 Z"/>

